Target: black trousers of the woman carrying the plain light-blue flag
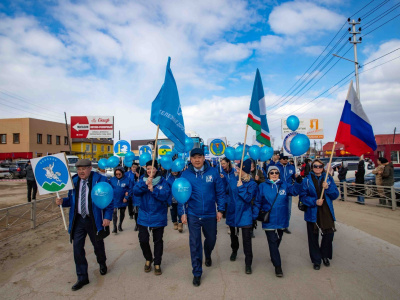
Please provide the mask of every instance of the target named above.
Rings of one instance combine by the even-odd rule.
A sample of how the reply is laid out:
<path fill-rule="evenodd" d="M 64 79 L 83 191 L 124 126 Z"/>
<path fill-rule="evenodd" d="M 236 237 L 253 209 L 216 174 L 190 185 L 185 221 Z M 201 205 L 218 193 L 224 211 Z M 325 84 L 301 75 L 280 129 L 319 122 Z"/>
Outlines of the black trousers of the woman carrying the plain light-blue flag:
<path fill-rule="evenodd" d="M 139 227 L 139 243 L 142 248 L 143 256 L 146 260 L 152 261 L 153 254 L 150 248 L 150 234 L 148 227 L 138 225 Z M 154 243 L 154 265 L 161 265 L 162 254 L 164 250 L 164 227 L 152 228 Z"/>

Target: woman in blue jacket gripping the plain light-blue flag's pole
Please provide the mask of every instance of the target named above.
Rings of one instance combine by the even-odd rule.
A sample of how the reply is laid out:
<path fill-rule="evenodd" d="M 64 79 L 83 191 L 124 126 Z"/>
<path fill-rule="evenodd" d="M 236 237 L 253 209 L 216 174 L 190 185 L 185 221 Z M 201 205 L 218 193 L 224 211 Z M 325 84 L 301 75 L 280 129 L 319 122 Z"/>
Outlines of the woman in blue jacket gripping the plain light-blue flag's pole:
<path fill-rule="evenodd" d="M 140 197 L 140 209 L 138 218 L 139 243 L 143 256 L 146 259 L 144 271 L 151 271 L 153 254 L 149 243 L 149 231 L 153 231 L 154 242 L 154 273 L 161 275 L 161 259 L 163 254 L 164 227 L 167 226 L 168 200 L 171 189 L 167 181 L 157 171 L 157 161 L 154 167 L 152 161 L 146 163 L 147 174 L 136 183 L 133 188 L 135 196 Z"/>

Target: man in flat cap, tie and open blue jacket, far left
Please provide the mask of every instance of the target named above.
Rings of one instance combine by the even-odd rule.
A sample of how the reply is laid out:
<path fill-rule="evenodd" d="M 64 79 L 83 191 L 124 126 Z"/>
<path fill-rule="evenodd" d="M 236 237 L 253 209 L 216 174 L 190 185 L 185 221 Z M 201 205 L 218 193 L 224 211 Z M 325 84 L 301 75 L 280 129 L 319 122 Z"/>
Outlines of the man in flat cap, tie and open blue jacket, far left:
<path fill-rule="evenodd" d="M 85 256 L 86 235 L 89 235 L 94 247 L 97 262 L 100 265 L 100 274 L 107 273 L 103 239 L 110 234 L 109 226 L 114 208 L 112 201 L 103 210 L 92 202 L 92 188 L 98 182 L 107 182 L 107 178 L 93 172 L 92 163 L 88 159 L 78 160 L 75 166 L 78 170 L 78 174 L 72 177 L 75 188 L 68 192 L 68 197 L 56 199 L 57 205 L 70 207 L 68 232 L 73 241 L 76 274 L 78 275 L 78 281 L 72 286 L 73 291 L 79 290 L 89 283 L 88 262 Z"/>

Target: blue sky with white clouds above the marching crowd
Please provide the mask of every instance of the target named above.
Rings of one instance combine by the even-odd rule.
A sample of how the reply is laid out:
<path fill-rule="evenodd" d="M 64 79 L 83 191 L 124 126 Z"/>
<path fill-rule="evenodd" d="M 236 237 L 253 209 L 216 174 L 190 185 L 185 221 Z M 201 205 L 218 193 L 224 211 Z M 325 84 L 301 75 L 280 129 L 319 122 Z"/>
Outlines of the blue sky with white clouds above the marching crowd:
<path fill-rule="evenodd" d="M 243 140 L 259 68 L 275 148 L 291 114 L 323 119 L 331 141 L 354 79 L 354 64 L 332 53 L 354 60 L 351 16 L 362 18 L 364 110 L 375 133 L 392 133 L 399 14 L 399 0 L 3 0 L 0 118 L 113 115 L 121 138 L 154 138 L 151 102 L 170 56 L 186 129 L 205 140 Z"/>

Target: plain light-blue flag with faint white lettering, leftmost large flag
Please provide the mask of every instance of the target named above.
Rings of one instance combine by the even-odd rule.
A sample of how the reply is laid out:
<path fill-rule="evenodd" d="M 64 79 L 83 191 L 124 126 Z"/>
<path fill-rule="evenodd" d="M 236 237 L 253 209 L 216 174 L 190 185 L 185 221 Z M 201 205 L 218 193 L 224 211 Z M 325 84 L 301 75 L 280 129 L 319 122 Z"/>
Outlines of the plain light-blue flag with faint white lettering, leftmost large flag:
<path fill-rule="evenodd" d="M 175 144 L 176 150 L 182 153 L 185 152 L 185 124 L 170 62 L 171 58 L 168 57 L 164 84 L 151 105 L 150 120 L 160 125 L 161 131 Z"/>

